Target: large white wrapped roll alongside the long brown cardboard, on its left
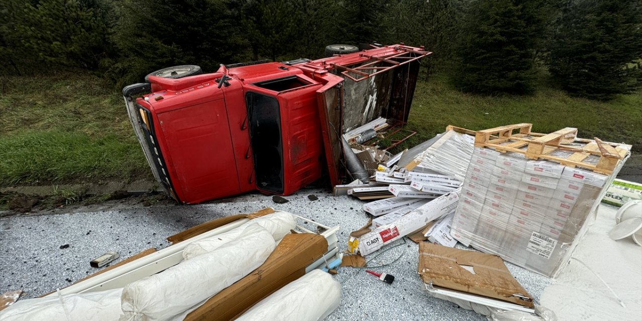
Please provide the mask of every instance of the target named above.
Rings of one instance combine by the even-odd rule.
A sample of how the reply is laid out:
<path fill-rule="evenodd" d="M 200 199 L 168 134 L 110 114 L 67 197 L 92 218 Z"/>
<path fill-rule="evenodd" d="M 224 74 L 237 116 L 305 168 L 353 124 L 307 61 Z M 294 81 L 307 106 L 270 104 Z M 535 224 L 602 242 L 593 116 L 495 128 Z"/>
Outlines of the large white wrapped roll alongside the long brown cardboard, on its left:
<path fill-rule="evenodd" d="M 259 267 L 274 250 L 272 234 L 261 228 L 163 272 L 125 286 L 121 321 L 182 318 L 205 300 Z"/>

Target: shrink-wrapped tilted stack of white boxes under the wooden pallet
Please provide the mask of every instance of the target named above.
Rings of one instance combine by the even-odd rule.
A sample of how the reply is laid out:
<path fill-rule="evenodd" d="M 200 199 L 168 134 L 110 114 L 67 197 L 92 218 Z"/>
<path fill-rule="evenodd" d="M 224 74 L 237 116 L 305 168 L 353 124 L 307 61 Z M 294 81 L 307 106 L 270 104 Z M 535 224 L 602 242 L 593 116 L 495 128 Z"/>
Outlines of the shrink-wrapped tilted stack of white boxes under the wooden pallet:
<path fill-rule="evenodd" d="M 451 234 L 464 245 L 555 276 L 612 177 L 476 147 Z"/>

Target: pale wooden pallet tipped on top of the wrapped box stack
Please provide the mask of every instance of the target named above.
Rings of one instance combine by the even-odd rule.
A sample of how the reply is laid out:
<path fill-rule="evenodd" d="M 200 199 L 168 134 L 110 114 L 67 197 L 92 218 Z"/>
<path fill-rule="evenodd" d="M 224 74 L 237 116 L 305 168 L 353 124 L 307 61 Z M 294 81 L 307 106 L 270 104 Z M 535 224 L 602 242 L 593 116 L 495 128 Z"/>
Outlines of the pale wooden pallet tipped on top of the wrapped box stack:
<path fill-rule="evenodd" d="M 631 148 L 627 144 L 605 143 L 597 137 L 578 138 L 577 128 L 567 127 L 551 134 L 540 134 L 531 132 L 532 126 L 529 123 L 521 123 L 478 131 L 447 126 L 446 130 L 474 135 L 477 147 L 492 148 L 498 152 L 521 153 L 529 159 L 552 160 L 569 167 L 586 168 L 605 175 L 613 172 Z M 576 146 L 569 144 L 576 144 Z M 524 149 L 525 146 L 526 149 Z M 568 157 L 550 155 L 558 150 L 572 153 Z M 585 161 L 590 155 L 600 157 L 596 164 Z"/>

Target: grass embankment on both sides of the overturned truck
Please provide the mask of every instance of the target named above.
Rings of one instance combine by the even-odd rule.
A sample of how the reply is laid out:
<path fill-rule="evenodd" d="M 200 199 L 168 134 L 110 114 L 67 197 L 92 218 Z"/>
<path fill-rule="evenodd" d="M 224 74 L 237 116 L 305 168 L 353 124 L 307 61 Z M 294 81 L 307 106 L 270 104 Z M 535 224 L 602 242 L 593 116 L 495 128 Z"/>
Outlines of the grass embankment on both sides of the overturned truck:
<path fill-rule="evenodd" d="M 119 92 L 100 78 L 13 76 L 0 86 L 0 186 L 152 178 Z M 642 150 L 642 93 L 603 103 L 540 87 L 534 96 L 491 98 L 462 94 L 441 76 L 420 81 L 407 126 L 418 134 L 403 146 L 446 125 L 479 130 L 533 123 L 537 132 L 576 127 L 580 137 Z"/>

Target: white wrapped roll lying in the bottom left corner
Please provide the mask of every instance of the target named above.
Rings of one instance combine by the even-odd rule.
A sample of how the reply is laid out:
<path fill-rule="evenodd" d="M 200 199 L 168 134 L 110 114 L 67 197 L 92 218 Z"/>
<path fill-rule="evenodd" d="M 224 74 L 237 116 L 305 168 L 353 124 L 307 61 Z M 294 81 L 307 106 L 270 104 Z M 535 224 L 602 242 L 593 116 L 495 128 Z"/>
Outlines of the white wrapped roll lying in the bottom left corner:
<path fill-rule="evenodd" d="M 0 311 L 3 321 L 116 321 L 122 288 L 91 293 L 19 300 Z"/>

